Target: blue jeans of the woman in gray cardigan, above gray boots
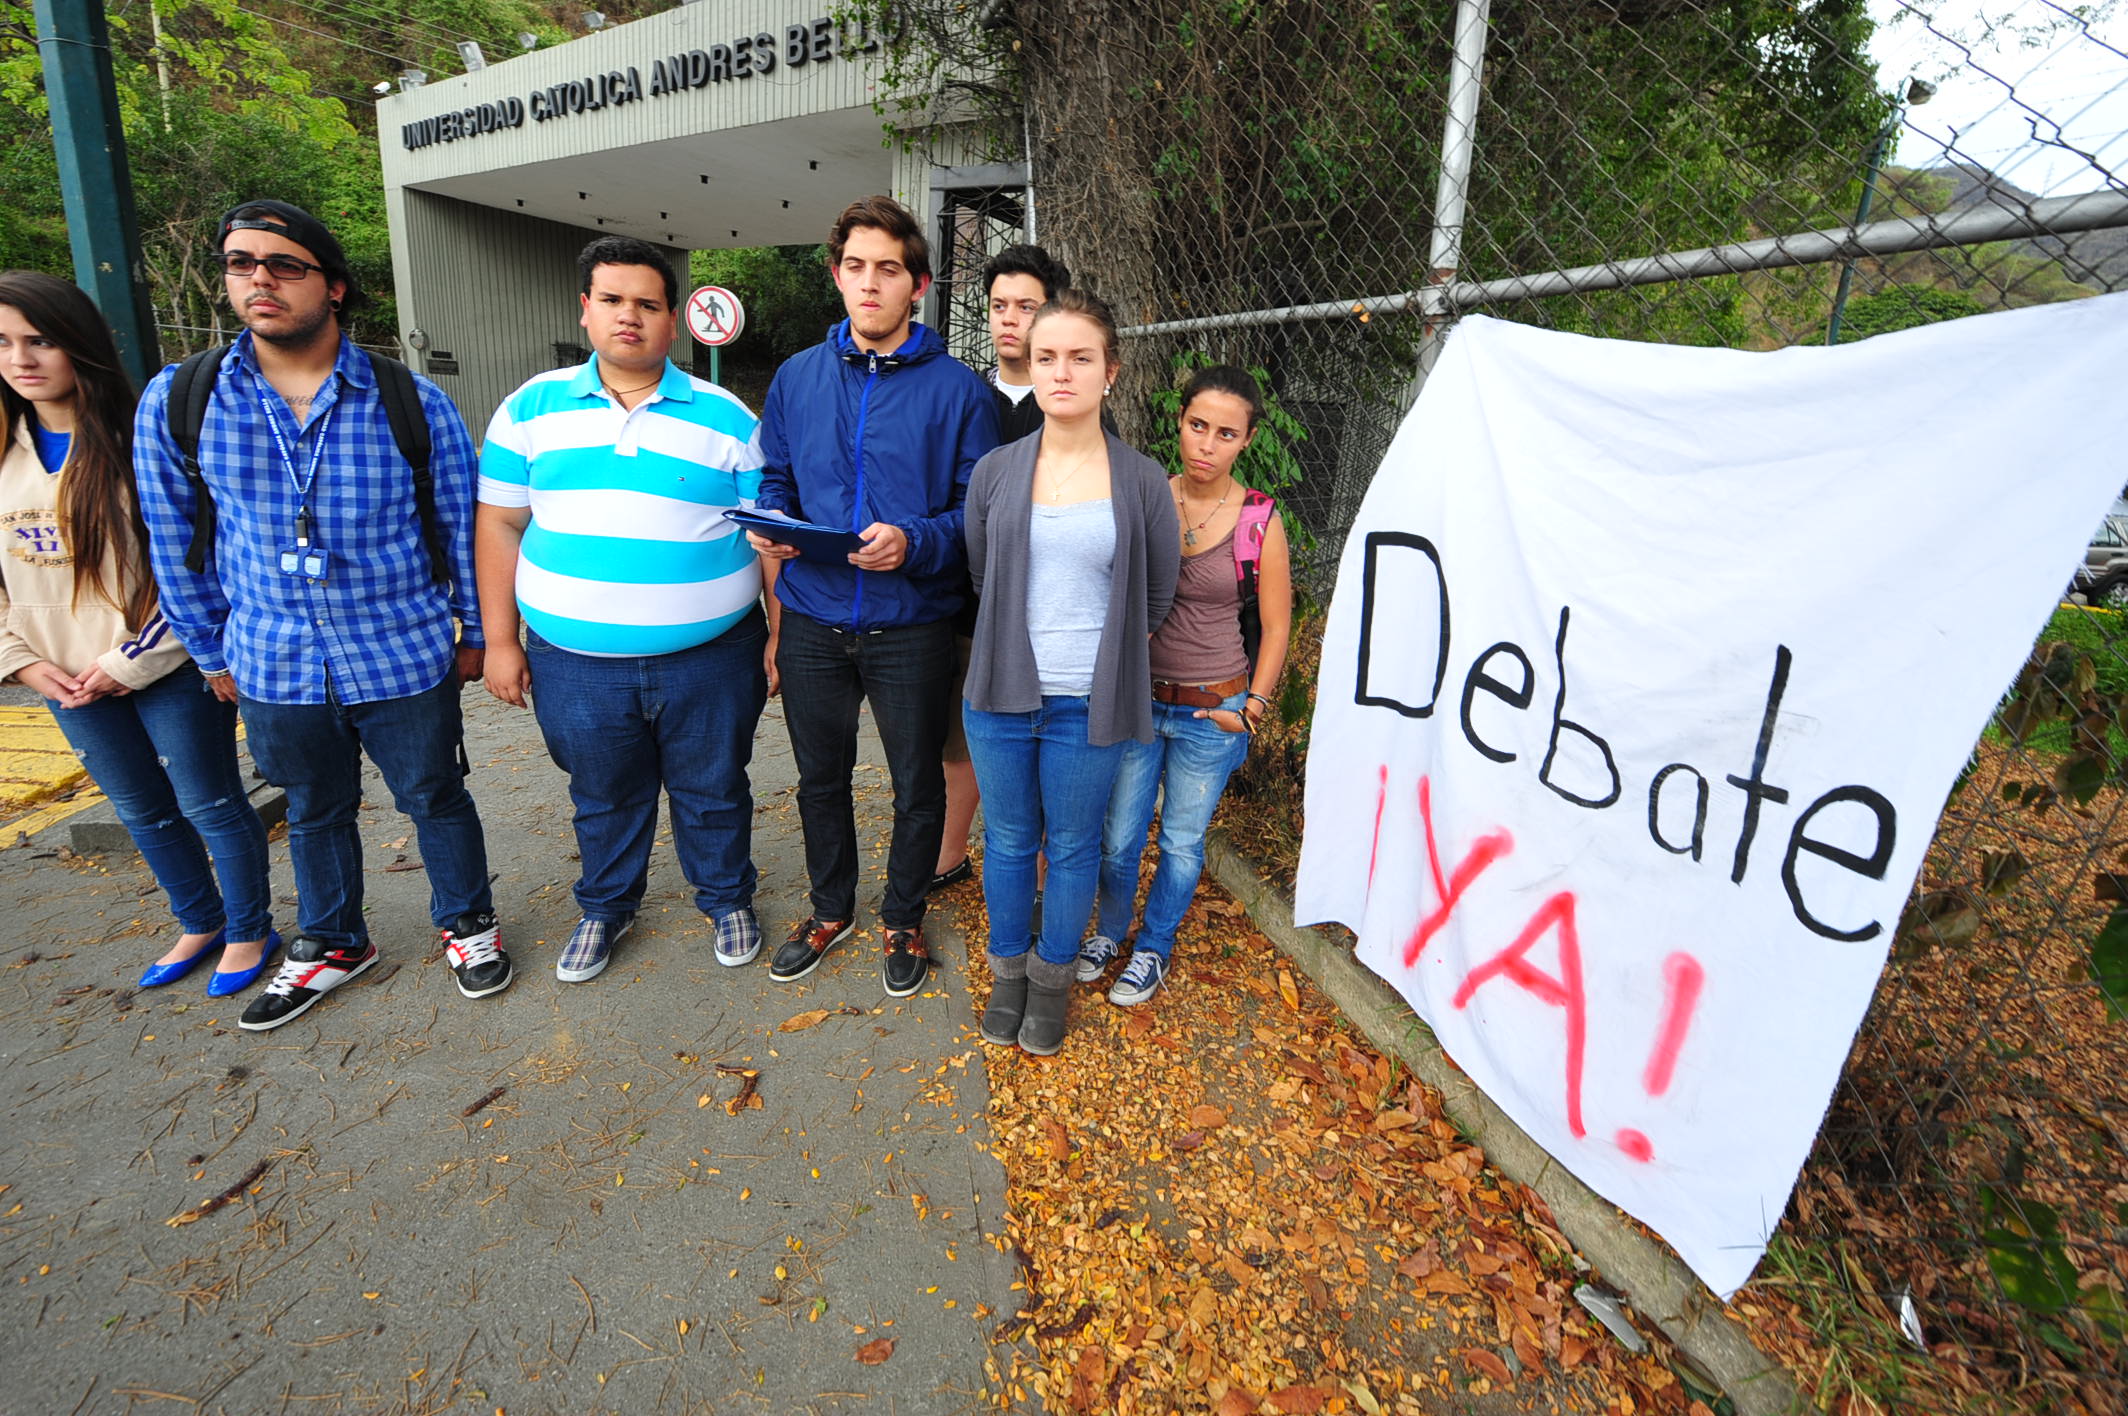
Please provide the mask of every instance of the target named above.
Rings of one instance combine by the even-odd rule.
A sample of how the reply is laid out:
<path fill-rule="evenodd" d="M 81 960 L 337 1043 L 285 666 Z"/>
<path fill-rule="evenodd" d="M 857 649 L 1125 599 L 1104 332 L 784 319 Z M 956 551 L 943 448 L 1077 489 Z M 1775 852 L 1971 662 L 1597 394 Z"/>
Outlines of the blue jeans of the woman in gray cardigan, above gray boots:
<path fill-rule="evenodd" d="M 1079 958 L 1100 875 L 1100 818 L 1130 743 L 1085 741 L 1085 698 L 1043 698 L 1032 713 L 964 707 L 968 760 L 983 790 L 983 905 L 990 952 L 1028 952 L 1034 933 L 1034 856 L 1049 856 L 1043 937 L 1034 956 Z"/>

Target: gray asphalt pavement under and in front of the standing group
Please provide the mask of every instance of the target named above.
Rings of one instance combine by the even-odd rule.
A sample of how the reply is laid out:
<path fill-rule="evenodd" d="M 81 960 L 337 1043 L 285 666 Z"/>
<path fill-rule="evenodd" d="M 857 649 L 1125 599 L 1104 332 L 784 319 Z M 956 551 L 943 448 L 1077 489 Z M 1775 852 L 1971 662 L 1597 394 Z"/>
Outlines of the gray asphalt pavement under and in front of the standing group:
<path fill-rule="evenodd" d="M 636 933 L 558 984 L 564 779 L 530 713 L 466 709 L 517 962 L 494 999 L 453 988 L 375 775 L 383 960 L 275 1033 L 236 1031 L 247 999 L 206 999 L 204 969 L 134 988 L 172 931 L 136 856 L 64 830 L 0 852 L 0 1412 L 985 1405 L 1017 1295 L 966 948 L 934 911 L 930 986 L 885 997 L 868 722 L 868 928 L 813 977 L 770 984 L 766 948 L 719 967 L 660 833 Z M 753 781 L 772 945 L 804 913 L 777 705 Z"/>

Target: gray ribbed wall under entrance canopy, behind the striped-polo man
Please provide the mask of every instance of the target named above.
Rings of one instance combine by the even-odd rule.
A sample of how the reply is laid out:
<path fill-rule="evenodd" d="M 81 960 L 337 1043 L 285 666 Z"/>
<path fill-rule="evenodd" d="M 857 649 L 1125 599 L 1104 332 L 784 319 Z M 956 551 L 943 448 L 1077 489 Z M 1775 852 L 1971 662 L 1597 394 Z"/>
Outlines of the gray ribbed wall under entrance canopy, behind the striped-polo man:
<path fill-rule="evenodd" d="M 411 364 L 451 394 L 475 441 L 511 390 L 555 368 L 555 345 L 583 345 L 577 251 L 602 232 L 513 215 L 417 190 L 392 192 L 392 275 L 406 330 L 428 336 Z M 687 287 L 687 251 L 666 249 Z M 404 339 L 404 330 L 402 330 Z M 685 334 L 675 358 L 692 358 Z M 438 353 L 458 373 L 438 373 Z"/>

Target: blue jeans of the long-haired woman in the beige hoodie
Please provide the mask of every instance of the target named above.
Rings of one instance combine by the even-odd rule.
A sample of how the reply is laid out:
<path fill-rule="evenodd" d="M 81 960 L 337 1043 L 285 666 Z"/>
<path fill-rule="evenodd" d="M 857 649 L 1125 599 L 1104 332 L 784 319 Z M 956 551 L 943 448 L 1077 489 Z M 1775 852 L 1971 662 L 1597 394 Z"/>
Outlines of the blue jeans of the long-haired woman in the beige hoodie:
<path fill-rule="evenodd" d="M 266 826 L 236 767 L 236 707 L 215 698 L 189 664 L 85 707 L 45 703 L 170 896 L 177 926 L 264 939 L 272 926 Z"/>

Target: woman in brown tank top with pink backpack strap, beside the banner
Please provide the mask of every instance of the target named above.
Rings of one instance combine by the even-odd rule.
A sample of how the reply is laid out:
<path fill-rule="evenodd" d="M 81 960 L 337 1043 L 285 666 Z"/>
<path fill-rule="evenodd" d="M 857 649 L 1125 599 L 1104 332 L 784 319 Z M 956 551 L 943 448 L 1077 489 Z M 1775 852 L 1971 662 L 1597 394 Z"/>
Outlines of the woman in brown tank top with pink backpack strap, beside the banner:
<path fill-rule="evenodd" d="M 1079 948 L 1081 984 L 1098 979 L 1121 952 L 1158 801 L 1160 865 L 1130 962 L 1109 988 L 1109 1001 L 1121 1007 L 1145 1003 L 1168 977 L 1175 931 L 1204 873 L 1204 828 L 1270 707 L 1294 622 L 1277 503 L 1234 481 L 1234 460 L 1264 413 L 1256 379 L 1226 364 L 1198 371 L 1181 409 L 1181 473 L 1168 490 L 1183 569 L 1175 607 L 1151 643 L 1153 741 L 1130 743 L 1115 775 L 1100 847 L 1100 913 Z"/>

